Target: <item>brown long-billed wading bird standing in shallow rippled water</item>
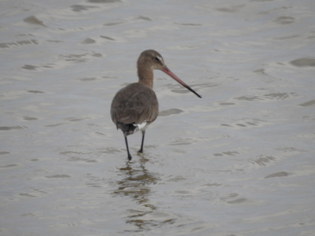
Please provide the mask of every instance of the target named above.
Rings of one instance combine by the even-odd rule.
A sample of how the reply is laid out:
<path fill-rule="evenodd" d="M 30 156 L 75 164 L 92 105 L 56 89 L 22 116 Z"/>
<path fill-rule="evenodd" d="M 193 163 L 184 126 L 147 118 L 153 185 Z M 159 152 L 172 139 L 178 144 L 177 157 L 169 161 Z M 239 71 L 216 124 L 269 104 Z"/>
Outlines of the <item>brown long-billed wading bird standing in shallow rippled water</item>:
<path fill-rule="evenodd" d="M 142 132 L 141 148 L 138 151 L 142 153 L 146 128 L 155 121 L 158 115 L 157 96 L 153 91 L 153 70 L 162 70 L 201 98 L 169 70 L 160 53 L 152 49 L 143 51 L 137 60 L 139 81 L 121 88 L 115 94 L 111 104 L 111 118 L 117 130 L 123 131 L 129 161 L 132 156 L 129 152 L 127 136 L 138 130 Z"/>

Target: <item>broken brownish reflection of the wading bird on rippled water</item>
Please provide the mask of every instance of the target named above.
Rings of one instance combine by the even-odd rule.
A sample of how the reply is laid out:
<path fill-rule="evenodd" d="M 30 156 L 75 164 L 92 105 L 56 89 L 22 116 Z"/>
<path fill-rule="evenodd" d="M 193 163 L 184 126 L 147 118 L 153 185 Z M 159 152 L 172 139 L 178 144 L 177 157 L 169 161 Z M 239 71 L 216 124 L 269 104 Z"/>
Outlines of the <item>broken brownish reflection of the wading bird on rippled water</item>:
<path fill-rule="evenodd" d="M 150 184 L 156 184 L 159 180 L 157 173 L 152 173 L 145 168 L 149 159 L 142 157 L 139 162 L 140 166 L 131 166 L 135 164 L 127 163 L 126 167 L 119 169 L 119 174 L 123 176 L 118 181 L 118 189 L 113 194 L 129 196 L 137 203 L 136 209 L 127 210 L 126 223 L 134 224 L 138 227 L 136 231 L 149 230 L 152 226 L 161 226 L 172 224 L 175 219 L 166 219 L 169 215 L 157 211 L 157 207 L 150 203 L 151 189 Z M 169 218 L 169 217 L 168 217 Z"/>

